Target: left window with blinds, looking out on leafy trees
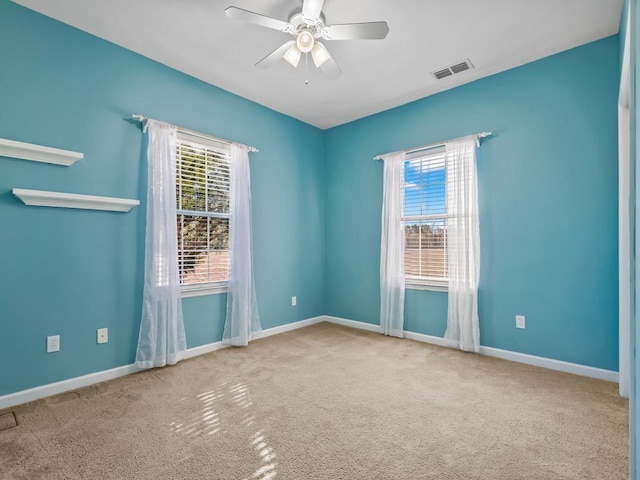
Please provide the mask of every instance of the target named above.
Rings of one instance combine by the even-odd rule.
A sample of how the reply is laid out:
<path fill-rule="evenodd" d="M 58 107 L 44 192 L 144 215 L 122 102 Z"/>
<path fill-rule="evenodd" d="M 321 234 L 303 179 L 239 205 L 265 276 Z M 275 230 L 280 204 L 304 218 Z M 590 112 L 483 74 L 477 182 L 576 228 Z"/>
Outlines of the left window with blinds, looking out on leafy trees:
<path fill-rule="evenodd" d="M 229 145 L 178 134 L 176 213 L 183 296 L 223 291 L 229 278 Z"/>

